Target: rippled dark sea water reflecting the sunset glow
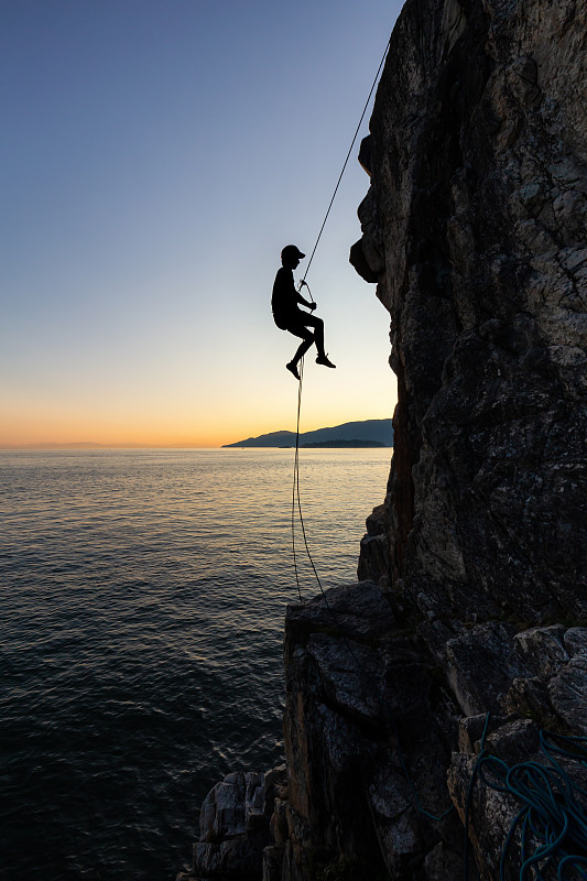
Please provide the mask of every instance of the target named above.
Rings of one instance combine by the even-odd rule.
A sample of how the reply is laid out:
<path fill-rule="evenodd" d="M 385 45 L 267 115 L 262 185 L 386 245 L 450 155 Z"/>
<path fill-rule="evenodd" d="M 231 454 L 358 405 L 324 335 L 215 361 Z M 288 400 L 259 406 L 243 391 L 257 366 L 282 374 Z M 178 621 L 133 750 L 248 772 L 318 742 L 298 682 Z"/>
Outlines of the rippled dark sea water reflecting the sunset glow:
<path fill-rule="evenodd" d="M 390 458 L 301 452 L 325 587 Z M 282 761 L 292 479 L 285 449 L 0 453 L 2 879 L 172 881 L 209 787 Z"/>

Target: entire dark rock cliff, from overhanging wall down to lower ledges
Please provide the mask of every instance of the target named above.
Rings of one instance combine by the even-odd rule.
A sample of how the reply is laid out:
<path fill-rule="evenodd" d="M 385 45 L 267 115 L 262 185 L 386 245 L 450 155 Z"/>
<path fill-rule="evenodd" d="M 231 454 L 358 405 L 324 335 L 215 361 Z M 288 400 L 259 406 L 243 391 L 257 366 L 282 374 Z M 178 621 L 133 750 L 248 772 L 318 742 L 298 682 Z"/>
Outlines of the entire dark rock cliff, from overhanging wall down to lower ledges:
<path fill-rule="evenodd" d="M 196 875 L 459 879 L 466 824 L 494 881 L 520 803 L 468 797 L 487 714 L 509 764 L 587 736 L 586 50 L 583 0 L 403 9 L 351 249 L 391 315 L 388 491 L 359 583 L 287 610 L 286 769 L 230 828 L 208 796 Z"/>

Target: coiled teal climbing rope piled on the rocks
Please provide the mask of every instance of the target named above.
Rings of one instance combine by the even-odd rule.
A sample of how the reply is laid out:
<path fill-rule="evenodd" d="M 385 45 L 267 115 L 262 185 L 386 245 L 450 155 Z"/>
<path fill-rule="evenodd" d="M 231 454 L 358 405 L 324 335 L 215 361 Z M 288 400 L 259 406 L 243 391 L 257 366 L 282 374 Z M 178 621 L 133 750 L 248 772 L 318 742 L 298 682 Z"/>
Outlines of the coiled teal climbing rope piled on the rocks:
<path fill-rule="evenodd" d="M 513 818 L 501 851 L 499 877 L 506 881 L 506 864 L 514 837 L 520 845 L 520 881 L 587 880 L 587 790 L 574 782 L 563 766 L 578 762 L 587 769 L 587 738 L 540 731 L 544 761 L 520 762 L 510 768 L 486 748 L 490 714 L 487 714 L 481 750 L 475 762 L 465 805 L 465 881 L 468 881 L 468 841 L 472 792 L 479 779 L 496 792 L 513 796 L 522 807 Z M 531 874 L 533 872 L 533 874 Z M 545 874 L 547 872 L 548 874 Z"/>

